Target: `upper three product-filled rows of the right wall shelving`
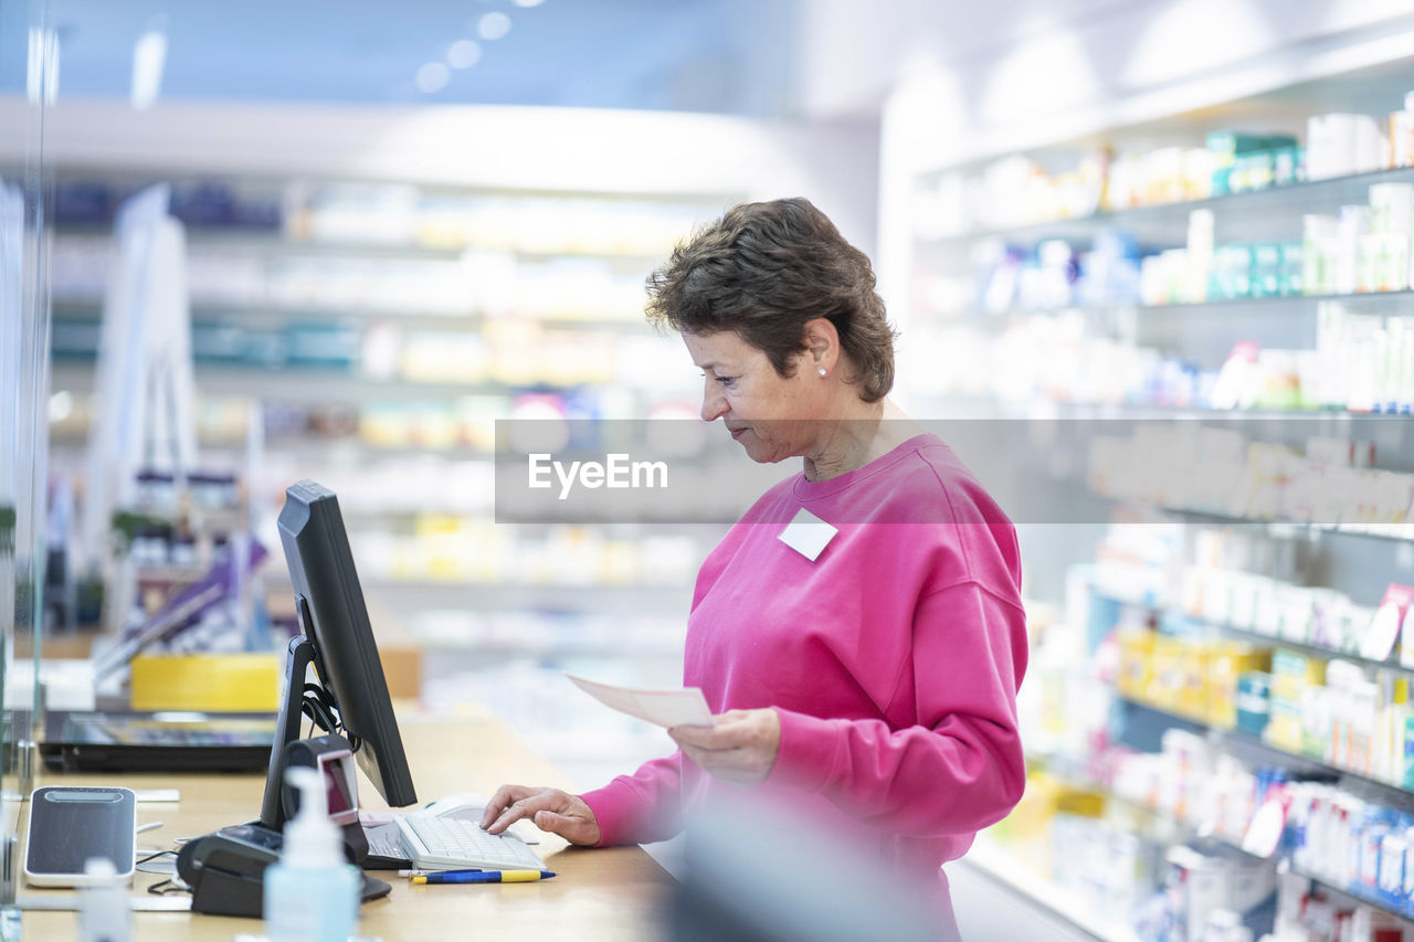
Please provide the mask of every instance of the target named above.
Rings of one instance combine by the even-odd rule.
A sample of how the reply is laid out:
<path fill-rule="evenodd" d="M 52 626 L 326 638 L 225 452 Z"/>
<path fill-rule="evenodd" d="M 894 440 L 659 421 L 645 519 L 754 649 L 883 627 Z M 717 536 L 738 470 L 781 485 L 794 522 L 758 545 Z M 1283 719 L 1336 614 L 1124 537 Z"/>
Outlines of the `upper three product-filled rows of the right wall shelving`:
<path fill-rule="evenodd" d="M 912 382 L 933 397 L 1407 413 L 1410 115 L 1389 133 L 1384 116 L 1318 115 L 1304 143 L 1222 130 L 1056 173 L 1093 149 L 1058 143 L 918 174 L 899 307 L 943 362 Z"/>

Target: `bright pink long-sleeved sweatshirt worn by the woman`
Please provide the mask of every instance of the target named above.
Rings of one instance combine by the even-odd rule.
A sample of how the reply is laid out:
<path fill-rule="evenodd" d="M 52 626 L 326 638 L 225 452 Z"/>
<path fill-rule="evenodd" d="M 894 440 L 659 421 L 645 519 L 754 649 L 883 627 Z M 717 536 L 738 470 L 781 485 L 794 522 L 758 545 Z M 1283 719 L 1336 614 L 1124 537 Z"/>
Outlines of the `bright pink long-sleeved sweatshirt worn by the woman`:
<path fill-rule="evenodd" d="M 814 562 L 778 539 L 802 506 L 840 530 Z M 1025 666 L 1015 530 L 918 436 L 827 481 L 788 478 L 747 512 L 697 576 L 683 683 L 713 713 L 781 714 L 761 791 L 937 878 L 1021 798 Z M 607 846 L 672 837 L 735 788 L 679 751 L 583 798 Z"/>

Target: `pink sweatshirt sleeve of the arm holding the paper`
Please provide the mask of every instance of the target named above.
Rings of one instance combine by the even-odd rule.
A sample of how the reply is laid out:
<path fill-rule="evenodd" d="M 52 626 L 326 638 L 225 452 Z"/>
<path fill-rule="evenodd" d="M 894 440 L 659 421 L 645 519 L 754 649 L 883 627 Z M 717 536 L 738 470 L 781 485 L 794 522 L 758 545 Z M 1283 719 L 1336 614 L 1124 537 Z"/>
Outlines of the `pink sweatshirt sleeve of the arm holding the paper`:
<path fill-rule="evenodd" d="M 857 820 L 919 837 L 993 825 L 1021 799 L 1025 764 L 1017 687 L 1025 612 L 976 581 L 926 595 L 913 620 L 911 669 L 889 713 L 916 724 L 781 714 L 769 784 L 819 792 Z"/>

